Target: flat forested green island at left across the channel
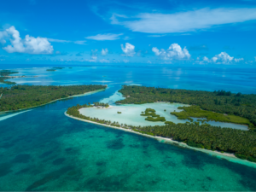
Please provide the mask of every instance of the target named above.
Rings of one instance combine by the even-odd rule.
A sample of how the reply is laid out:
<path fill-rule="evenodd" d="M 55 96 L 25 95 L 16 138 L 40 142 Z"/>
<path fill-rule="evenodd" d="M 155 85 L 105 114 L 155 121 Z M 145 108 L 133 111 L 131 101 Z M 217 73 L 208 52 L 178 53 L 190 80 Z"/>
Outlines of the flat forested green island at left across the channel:
<path fill-rule="evenodd" d="M 14 85 L 1 87 L 0 112 L 33 108 L 69 96 L 106 89 L 106 85 Z M 106 105 L 108 106 L 108 105 Z"/>

